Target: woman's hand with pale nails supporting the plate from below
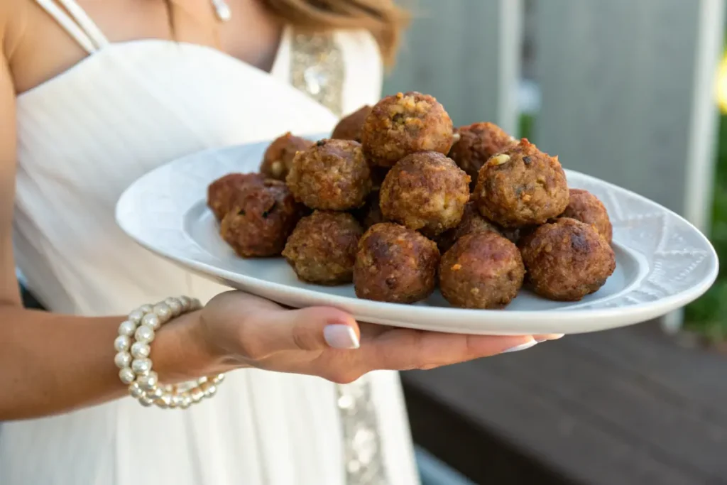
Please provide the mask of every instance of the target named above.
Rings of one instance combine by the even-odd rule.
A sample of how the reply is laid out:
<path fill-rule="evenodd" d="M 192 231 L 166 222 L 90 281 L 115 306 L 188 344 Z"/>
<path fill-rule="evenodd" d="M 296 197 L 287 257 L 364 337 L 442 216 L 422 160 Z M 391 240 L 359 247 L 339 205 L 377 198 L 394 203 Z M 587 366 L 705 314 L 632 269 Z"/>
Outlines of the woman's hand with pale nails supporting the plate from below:
<path fill-rule="evenodd" d="M 243 292 L 214 297 L 199 337 L 217 361 L 352 382 L 377 369 L 433 369 L 521 350 L 560 335 L 490 337 L 358 323 L 336 308 L 287 310 Z"/>

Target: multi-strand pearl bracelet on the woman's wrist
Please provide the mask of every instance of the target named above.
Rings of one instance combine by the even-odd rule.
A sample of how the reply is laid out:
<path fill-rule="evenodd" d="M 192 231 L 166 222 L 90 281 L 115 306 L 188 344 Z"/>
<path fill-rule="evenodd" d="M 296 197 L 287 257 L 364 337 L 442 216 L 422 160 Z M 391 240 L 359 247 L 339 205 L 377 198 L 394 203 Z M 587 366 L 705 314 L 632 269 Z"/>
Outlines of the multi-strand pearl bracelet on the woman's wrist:
<path fill-rule="evenodd" d="M 201 377 L 177 385 L 161 385 L 149 358 L 149 344 L 154 340 L 154 332 L 172 318 L 198 310 L 201 306 L 196 298 L 167 298 L 156 305 L 140 306 L 119 325 L 119 337 L 113 342 L 117 352 L 113 361 L 121 369 L 121 382 L 129 385 L 129 394 L 143 406 L 156 404 L 164 409 L 187 409 L 217 392 L 217 385 L 225 378 L 225 374 Z"/>

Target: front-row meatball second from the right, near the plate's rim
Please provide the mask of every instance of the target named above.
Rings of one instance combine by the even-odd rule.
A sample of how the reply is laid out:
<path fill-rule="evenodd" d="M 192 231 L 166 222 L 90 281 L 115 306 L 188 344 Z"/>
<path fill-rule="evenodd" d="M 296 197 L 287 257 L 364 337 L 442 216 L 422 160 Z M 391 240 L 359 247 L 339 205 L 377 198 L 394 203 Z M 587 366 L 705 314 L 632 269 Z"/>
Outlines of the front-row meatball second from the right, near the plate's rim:
<path fill-rule="evenodd" d="M 471 233 L 442 256 L 442 296 L 460 308 L 504 308 L 523 286 L 518 247 L 497 233 Z"/>

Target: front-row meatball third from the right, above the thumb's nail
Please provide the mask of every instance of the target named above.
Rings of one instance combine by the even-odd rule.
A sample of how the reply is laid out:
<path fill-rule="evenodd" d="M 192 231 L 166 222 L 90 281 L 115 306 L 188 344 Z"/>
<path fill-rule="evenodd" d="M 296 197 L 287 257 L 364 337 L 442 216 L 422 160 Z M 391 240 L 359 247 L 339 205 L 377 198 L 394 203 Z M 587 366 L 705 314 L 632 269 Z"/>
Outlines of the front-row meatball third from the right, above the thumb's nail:
<path fill-rule="evenodd" d="M 433 241 L 398 224 L 372 225 L 358 241 L 356 296 L 381 302 L 424 300 L 436 284 L 439 250 Z"/>

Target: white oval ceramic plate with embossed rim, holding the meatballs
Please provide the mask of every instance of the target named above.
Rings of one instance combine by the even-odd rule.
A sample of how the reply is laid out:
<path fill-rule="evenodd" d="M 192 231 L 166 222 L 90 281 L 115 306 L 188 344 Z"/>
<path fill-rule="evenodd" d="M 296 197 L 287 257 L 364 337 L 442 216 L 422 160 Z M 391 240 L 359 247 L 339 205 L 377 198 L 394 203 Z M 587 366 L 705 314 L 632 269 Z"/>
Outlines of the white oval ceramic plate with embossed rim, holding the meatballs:
<path fill-rule="evenodd" d="M 523 289 L 505 310 L 451 308 L 435 292 L 416 305 L 359 300 L 353 285 L 298 281 L 282 258 L 245 260 L 219 236 L 206 207 L 207 185 L 230 172 L 256 172 L 268 143 L 195 153 L 133 183 L 116 220 L 139 244 L 214 281 L 291 307 L 334 305 L 361 321 L 470 334 L 593 332 L 635 324 L 680 308 L 715 281 L 710 242 L 682 217 L 635 193 L 566 171 L 571 188 L 606 204 L 614 225 L 616 270 L 580 302 L 545 300 Z"/>

